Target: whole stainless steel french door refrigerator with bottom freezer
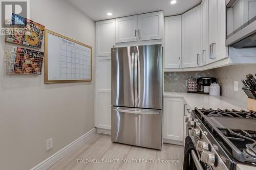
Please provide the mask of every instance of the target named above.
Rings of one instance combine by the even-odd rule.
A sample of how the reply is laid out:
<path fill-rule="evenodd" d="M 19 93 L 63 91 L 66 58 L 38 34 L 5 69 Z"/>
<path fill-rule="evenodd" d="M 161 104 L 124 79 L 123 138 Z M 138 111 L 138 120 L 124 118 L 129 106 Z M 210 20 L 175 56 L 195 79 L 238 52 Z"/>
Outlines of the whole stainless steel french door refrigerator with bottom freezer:
<path fill-rule="evenodd" d="M 162 148 L 162 46 L 111 49 L 112 141 Z"/>

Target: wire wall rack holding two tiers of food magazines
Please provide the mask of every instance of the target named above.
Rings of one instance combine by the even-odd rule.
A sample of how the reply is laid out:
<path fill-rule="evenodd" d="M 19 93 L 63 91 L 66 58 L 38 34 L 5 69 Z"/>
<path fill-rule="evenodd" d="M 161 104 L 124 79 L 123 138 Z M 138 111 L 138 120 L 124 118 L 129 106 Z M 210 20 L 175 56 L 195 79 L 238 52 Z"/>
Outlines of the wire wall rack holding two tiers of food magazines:
<path fill-rule="evenodd" d="M 5 37 L 6 74 L 40 75 L 44 62 L 44 49 L 40 49 L 44 43 L 45 26 L 16 14 L 5 23 L 10 27 Z"/>

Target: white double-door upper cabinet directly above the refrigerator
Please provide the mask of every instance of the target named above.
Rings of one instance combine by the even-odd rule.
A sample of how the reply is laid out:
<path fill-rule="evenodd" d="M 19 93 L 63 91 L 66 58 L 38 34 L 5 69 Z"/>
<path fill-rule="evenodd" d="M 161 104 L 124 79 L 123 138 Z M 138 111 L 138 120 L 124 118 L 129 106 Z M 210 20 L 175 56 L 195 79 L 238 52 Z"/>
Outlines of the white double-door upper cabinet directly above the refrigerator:
<path fill-rule="evenodd" d="M 116 43 L 162 39 L 163 12 L 116 19 Z"/>

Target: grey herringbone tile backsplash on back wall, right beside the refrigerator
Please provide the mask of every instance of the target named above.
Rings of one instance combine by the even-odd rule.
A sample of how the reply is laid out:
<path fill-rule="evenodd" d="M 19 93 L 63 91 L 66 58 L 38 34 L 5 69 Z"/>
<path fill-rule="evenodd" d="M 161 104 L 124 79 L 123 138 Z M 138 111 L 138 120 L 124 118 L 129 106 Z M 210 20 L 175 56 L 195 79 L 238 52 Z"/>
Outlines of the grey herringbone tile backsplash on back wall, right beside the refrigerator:
<path fill-rule="evenodd" d="M 214 70 L 187 71 L 187 72 L 165 72 L 164 91 L 187 92 L 186 80 L 190 77 L 214 77 Z"/>

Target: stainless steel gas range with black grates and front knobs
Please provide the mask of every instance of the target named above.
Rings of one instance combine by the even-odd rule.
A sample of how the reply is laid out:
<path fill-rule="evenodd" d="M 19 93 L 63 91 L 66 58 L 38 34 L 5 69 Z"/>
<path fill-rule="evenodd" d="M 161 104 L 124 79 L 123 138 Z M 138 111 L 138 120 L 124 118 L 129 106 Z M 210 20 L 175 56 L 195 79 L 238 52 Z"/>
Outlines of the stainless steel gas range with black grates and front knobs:
<path fill-rule="evenodd" d="M 195 108 L 186 122 L 201 169 L 256 169 L 256 112 Z"/>

